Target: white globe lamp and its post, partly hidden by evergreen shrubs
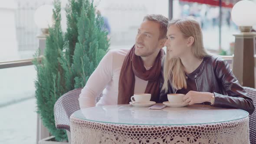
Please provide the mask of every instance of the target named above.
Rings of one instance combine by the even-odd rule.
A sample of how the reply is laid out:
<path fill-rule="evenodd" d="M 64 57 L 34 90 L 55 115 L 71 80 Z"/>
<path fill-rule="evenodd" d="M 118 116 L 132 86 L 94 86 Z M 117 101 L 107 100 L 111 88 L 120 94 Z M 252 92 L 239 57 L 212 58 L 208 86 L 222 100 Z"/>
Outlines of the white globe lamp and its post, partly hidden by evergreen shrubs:
<path fill-rule="evenodd" d="M 49 35 L 49 27 L 53 25 L 53 6 L 43 5 L 36 9 L 34 13 L 34 20 L 41 33 L 37 36 L 39 39 L 39 55 L 43 55 L 44 49 L 46 47 L 46 36 Z M 38 141 L 49 137 L 49 131 L 43 125 L 42 120 L 37 114 L 37 134 L 36 134 L 36 144 Z"/>

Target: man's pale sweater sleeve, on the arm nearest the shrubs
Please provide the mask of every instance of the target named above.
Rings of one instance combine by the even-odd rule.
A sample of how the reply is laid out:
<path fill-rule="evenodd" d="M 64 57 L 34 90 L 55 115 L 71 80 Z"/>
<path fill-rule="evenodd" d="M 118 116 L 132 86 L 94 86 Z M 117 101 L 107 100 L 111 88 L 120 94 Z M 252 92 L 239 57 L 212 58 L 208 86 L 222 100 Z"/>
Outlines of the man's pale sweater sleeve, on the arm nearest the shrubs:
<path fill-rule="evenodd" d="M 112 61 L 112 52 L 109 51 L 89 77 L 79 95 L 79 105 L 81 109 L 95 106 L 95 98 L 102 93 L 108 82 L 112 79 Z"/>

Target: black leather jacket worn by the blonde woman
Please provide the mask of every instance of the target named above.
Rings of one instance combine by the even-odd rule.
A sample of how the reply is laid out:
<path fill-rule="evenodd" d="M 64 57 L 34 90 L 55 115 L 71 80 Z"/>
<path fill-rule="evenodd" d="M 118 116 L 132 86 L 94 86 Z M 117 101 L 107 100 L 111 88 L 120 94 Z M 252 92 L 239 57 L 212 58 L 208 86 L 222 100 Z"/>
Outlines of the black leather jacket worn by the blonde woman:
<path fill-rule="evenodd" d="M 160 89 L 163 85 L 161 78 Z M 187 75 L 187 89 L 174 89 L 168 85 L 168 92 L 160 92 L 159 102 L 168 101 L 167 94 L 183 93 L 190 90 L 198 92 L 214 92 L 215 102 L 213 106 L 222 108 L 239 108 L 248 111 L 251 115 L 254 111 L 253 100 L 247 96 L 246 91 L 239 84 L 229 64 L 217 57 L 206 56 L 200 66 Z M 204 104 L 210 105 L 209 102 Z"/>

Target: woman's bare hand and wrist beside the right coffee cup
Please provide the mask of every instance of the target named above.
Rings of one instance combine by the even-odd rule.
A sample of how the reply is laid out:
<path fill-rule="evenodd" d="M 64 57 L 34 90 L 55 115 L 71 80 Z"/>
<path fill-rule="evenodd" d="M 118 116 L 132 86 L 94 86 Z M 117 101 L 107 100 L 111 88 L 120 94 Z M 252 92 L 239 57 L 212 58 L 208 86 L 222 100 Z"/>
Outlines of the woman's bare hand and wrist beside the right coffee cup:
<path fill-rule="evenodd" d="M 213 94 L 210 92 L 196 92 L 189 91 L 183 98 L 183 100 L 189 105 L 200 104 L 203 102 L 210 102 Z"/>

